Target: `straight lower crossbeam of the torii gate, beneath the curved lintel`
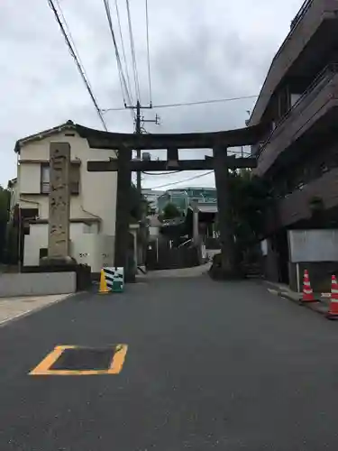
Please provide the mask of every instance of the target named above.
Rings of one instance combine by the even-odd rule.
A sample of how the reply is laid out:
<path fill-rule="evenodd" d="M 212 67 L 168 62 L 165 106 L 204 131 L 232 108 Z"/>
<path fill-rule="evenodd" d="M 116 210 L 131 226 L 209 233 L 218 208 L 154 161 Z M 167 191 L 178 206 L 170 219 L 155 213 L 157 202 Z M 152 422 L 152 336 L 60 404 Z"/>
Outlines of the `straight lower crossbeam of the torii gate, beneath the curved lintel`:
<path fill-rule="evenodd" d="M 227 166 L 230 169 L 256 168 L 257 160 L 255 158 L 227 158 Z M 130 161 L 132 171 L 151 171 L 151 170 L 213 170 L 214 159 L 206 160 L 178 160 L 178 166 L 169 167 L 168 161 Z M 111 161 L 88 161 L 87 170 L 89 172 L 114 172 L 118 170 L 117 160 Z"/>

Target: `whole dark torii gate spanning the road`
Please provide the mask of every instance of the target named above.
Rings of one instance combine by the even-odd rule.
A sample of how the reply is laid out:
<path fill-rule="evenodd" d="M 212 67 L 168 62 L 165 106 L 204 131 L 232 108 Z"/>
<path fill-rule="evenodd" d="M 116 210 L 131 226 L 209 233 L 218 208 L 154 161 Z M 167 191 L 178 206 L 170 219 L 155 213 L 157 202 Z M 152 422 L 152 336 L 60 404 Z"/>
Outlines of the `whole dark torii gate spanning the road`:
<path fill-rule="evenodd" d="M 229 147 L 260 143 L 267 132 L 267 124 L 215 133 L 134 134 L 102 132 L 76 125 L 81 137 L 96 149 L 118 151 L 111 161 L 88 161 L 87 170 L 117 171 L 117 206 L 114 264 L 127 270 L 126 255 L 129 234 L 129 201 L 132 171 L 150 170 L 215 170 L 217 205 L 224 279 L 237 275 L 234 262 L 233 226 L 229 210 L 228 169 L 254 168 L 255 158 L 235 158 L 227 155 Z M 132 150 L 167 149 L 167 161 L 132 161 Z M 179 149 L 213 149 L 213 157 L 205 160 L 178 159 Z"/>

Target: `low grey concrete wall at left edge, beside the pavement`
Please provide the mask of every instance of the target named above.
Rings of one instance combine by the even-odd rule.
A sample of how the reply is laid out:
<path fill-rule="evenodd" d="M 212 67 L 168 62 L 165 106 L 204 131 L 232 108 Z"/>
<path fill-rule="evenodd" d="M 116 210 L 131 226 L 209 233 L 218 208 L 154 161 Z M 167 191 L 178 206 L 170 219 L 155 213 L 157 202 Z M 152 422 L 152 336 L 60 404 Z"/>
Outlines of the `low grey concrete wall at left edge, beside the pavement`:
<path fill-rule="evenodd" d="M 77 290 L 75 272 L 0 274 L 0 297 L 69 294 Z"/>

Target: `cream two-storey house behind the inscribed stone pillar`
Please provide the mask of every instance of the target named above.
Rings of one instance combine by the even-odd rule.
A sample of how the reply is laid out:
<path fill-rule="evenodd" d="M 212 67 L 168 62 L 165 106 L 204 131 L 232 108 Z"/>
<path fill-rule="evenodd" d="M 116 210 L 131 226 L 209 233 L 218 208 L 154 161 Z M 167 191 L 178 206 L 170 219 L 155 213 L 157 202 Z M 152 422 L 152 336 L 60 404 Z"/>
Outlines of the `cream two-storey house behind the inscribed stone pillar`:
<path fill-rule="evenodd" d="M 47 254 L 50 143 L 68 142 L 70 171 L 70 253 L 78 263 L 87 263 L 92 272 L 114 265 L 117 172 L 88 172 L 87 161 L 116 158 L 113 150 L 91 149 L 71 122 L 19 140 L 17 182 L 13 203 L 29 218 L 23 245 L 23 265 L 38 265 Z M 136 232 L 134 249 L 136 249 Z"/>

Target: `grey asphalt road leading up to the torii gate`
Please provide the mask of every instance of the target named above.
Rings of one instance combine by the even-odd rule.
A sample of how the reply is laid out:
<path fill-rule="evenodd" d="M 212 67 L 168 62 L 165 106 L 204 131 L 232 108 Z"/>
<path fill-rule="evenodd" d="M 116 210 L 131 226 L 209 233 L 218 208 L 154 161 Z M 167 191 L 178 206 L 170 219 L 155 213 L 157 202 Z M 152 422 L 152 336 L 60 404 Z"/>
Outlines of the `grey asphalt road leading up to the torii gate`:
<path fill-rule="evenodd" d="M 28 375 L 112 344 L 122 373 Z M 338 323 L 255 282 L 81 295 L 0 327 L 0 450 L 336 451 L 337 348 Z"/>

